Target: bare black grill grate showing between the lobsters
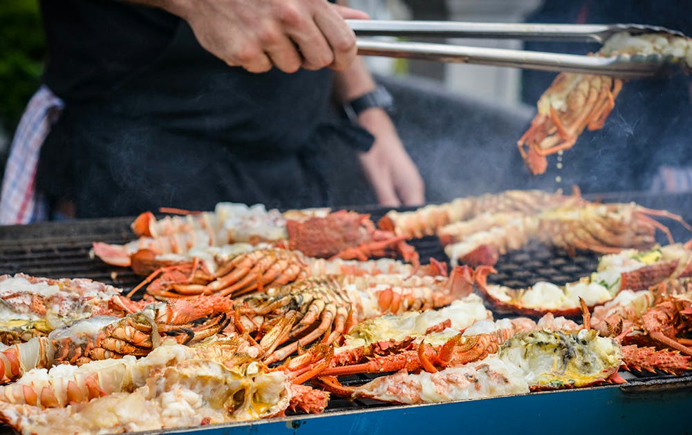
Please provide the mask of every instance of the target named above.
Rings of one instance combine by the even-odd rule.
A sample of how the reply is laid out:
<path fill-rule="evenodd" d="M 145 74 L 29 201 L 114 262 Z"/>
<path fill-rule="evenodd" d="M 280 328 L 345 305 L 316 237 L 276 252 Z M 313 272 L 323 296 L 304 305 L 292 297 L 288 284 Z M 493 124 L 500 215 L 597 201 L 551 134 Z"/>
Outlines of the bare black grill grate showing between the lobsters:
<path fill-rule="evenodd" d="M 667 207 L 671 212 L 682 214 L 686 220 L 692 221 L 692 194 L 611 194 L 603 197 L 610 202 L 637 201 L 648 207 Z M 353 208 L 370 213 L 374 221 L 385 212 L 376 207 Z M 134 234 L 129 229 L 133 219 L 124 217 L 0 226 L 0 274 L 24 272 L 40 277 L 84 277 L 129 290 L 141 281 L 141 277 L 134 275 L 128 268 L 109 266 L 99 259 L 92 259 L 89 257 L 89 251 L 93 241 L 127 243 L 134 239 Z M 671 225 L 671 231 L 676 241 L 686 241 L 690 237 L 681 225 Z M 660 242 L 666 243 L 666 240 L 662 238 Z M 437 237 L 424 237 L 413 241 L 412 245 L 417 248 L 424 262 L 427 262 L 429 257 L 448 261 Z M 514 288 L 531 286 L 540 280 L 564 284 L 590 275 L 597 266 L 597 260 L 597 255 L 591 252 L 577 252 L 574 257 L 569 257 L 565 252 L 533 243 L 522 250 L 500 257 L 495 266 L 498 274 L 491 275 L 489 281 Z M 655 382 L 671 382 L 675 379 L 662 373 L 625 373 L 625 376 L 630 379 L 654 378 Z M 356 385 L 370 379 L 372 376 L 357 375 L 343 379 L 343 383 Z M 391 405 L 374 400 L 337 399 L 330 401 L 327 412 L 389 406 Z M 7 427 L 0 426 L 0 434 L 7 430 Z"/>

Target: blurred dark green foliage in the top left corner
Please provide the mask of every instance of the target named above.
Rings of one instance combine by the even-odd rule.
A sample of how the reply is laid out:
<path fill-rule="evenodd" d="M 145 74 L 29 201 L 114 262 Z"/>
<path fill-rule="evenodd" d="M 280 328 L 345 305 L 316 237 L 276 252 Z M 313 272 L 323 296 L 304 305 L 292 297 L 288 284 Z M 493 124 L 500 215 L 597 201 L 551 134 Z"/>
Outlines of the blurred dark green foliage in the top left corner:
<path fill-rule="evenodd" d="M 39 86 L 44 55 L 38 0 L 0 0 L 0 122 L 10 135 Z"/>

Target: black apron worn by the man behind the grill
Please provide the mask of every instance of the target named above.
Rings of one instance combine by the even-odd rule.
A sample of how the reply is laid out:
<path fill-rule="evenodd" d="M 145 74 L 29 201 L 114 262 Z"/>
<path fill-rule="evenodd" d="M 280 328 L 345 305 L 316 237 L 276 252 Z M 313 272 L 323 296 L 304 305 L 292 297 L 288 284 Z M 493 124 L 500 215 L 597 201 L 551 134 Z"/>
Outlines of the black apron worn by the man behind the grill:
<path fill-rule="evenodd" d="M 210 210 L 219 201 L 329 205 L 320 147 L 334 136 L 358 149 L 372 144 L 331 113 L 330 91 L 326 69 L 230 68 L 180 21 L 163 52 L 112 90 L 66 98 L 37 187 L 75 201 L 79 217 Z"/>

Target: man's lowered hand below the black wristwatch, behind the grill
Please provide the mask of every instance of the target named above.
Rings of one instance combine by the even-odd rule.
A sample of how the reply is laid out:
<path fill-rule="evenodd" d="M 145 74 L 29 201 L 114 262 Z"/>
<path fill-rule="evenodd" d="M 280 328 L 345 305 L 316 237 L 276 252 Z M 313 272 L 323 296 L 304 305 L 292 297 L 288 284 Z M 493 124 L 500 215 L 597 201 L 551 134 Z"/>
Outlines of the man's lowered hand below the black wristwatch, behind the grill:
<path fill-rule="evenodd" d="M 358 160 L 380 205 L 423 204 L 423 178 L 404 149 L 389 115 L 383 109 L 366 109 L 358 115 L 358 123 L 375 137 L 370 151 L 360 154 Z"/>

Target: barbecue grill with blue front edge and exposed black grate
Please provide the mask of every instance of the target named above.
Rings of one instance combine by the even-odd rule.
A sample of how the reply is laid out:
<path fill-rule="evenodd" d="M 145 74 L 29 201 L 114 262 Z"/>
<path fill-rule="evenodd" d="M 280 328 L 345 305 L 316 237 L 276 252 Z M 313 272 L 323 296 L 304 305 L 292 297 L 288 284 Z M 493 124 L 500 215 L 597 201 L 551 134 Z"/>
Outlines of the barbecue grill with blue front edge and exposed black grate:
<path fill-rule="evenodd" d="M 603 194 L 590 196 L 590 199 L 596 197 L 608 202 L 636 201 L 651 208 L 668 207 L 671 212 L 682 214 L 686 220 L 692 221 L 692 193 L 657 196 L 641 193 Z M 374 220 L 385 213 L 380 207 L 349 208 L 370 213 Z M 29 275 L 53 278 L 86 277 L 129 290 L 138 284 L 141 277 L 134 275 L 129 268 L 109 266 L 98 259 L 90 258 L 89 250 L 93 241 L 126 243 L 134 239 L 134 234 L 129 229 L 133 219 L 118 217 L 0 226 L 0 274 L 25 272 Z M 682 225 L 671 225 L 671 231 L 676 240 L 686 240 Z M 659 241 L 666 243 L 662 238 Z M 448 260 L 436 237 L 424 237 L 413 241 L 412 244 L 419 250 L 421 259 L 435 257 L 441 261 Z M 545 267 L 546 261 L 550 266 L 548 268 Z M 525 249 L 500 257 L 496 267 L 500 273 L 489 277 L 489 281 L 507 286 L 528 286 L 540 279 L 563 284 L 588 275 L 596 264 L 595 254 L 578 252 L 576 257 L 570 258 L 564 252 L 530 244 Z M 333 430 L 335 425 L 350 426 L 351 429 L 380 428 L 388 432 L 399 427 L 403 432 L 411 432 L 415 429 L 425 430 L 426 423 L 435 418 L 442 422 L 441 427 L 450 430 L 463 424 L 466 429 L 486 432 L 488 422 L 484 422 L 482 418 L 474 419 L 473 416 L 491 416 L 496 413 L 496 409 L 500 409 L 505 414 L 503 419 L 512 418 L 516 419 L 516 423 L 524 422 L 530 425 L 530 417 L 536 414 L 536 408 L 543 407 L 550 411 L 539 412 L 538 415 L 547 418 L 547 424 L 550 425 L 561 423 L 559 418 L 554 417 L 560 415 L 561 407 L 570 407 L 583 415 L 594 414 L 603 417 L 603 424 L 608 424 L 603 409 L 608 409 L 608 414 L 628 416 L 627 424 L 615 428 L 618 430 L 630 428 L 632 431 L 640 432 L 645 427 L 652 430 L 657 428 L 657 425 L 652 424 L 653 419 L 642 417 L 645 415 L 644 408 L 653 408 L 648 410 L 649 415 L 654 409 L 661 415 L 670 415 L 671 418 L 666 418 L 668 425 L 676 420 L 676 416 L 677 420 L 681 420 L 680 416 L 684 415 L 682 413 L 686 409 L 684 405 L 692 399 L 692 374 L 682 377 L 662 376 L 660 373 L 628 376 L 630 382 L 621 387 L 610 385 L 430 405 L 396 406 L 372 400 L 332 400 L 325 414 L 317 416 L 298 415 L 212 427 L 193 427 L 174 430 L 171 433 L 283 434 L 290 431 L 294 434 L 319 434 L 329 428 Z M 364 382 L 369 379 L 369 376 L 362 375 L 353 378 L 352 382 Z M 471 418 L 468 418 L 469 416 Z M 0 427 L 0 434 L 7 429 Z M 567 429 L 568 433 L 570 429 L 577 432 L 576 427 L 562 427 L 561 430 L 563 429 Z M 582 427 L 578 429 L 579 432 L 583 430 Z M 163 432 L 165 431 L 146 433 Z"/>

